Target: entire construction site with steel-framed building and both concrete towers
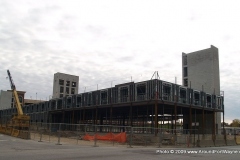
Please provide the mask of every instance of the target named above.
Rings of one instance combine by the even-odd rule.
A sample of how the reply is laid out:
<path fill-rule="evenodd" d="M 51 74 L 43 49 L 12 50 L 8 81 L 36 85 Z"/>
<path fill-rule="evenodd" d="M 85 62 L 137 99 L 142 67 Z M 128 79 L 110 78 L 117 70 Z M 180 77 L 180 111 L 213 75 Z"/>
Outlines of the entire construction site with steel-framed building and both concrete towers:
<path fill-rule="evenodd" d="M 194 56 L 207 57 L 207 60 L 203 61 L 200 57 L 201 61 L 196 64 L 196 61 L 191 62 Z M 209 56 L 217 62 L 210 61 L 213 70 L 202 77 L 204 69 L 209 70 L 206 66 Z M 194 67 L 191 66 L 193 63 Z M 182 85 L 160 79 L 156 71 L 146 81 L 122 83 L 84 93 L 77 93 L 78 78 L 69 81 L 57 74 L 58 79 L 54 80 L 57 85 L 54 86 L 58 91 L 53 89 L 53 99 L 23 105 L 22 111 L 29 116 L 30 125 L 40 124 L 52 132 L 59 130 L 59 125 L 56 127 L 56 124 L 68 124 L 71 127 L 65 125 L 63 128 L 62 125 L 61 130 L 81 131 L 85 135 L 126 133 L 126 136 L 131 135 L 131 143 L 134 142 L 134 137 L 147 135 L 149 141 L 161 144 L 164 140 L 171 144 L 191 143 L 194 146 L 236 144 L 234 139 L 227 140 L 220 125 L 221 117 L 224 122 L 224 92 L 220 91 L 218 49 L 211 46 L 190 54 L 183 53 L 182 64 Z M 199 72 L 201 78 L 196 68 L 203 70 Z M 17 111 L 17 108 L 0 110 L 1 126 L 7 128 L 12 115 Z M 95 127 L 86 128 L 87 125 Z M 2 132 L 5 128 L 2 127 Z M 181 136 L 188 136 L 187 142 Z M 141 138 L 137 139 L 138 142 L 139 140 Z M 124 140 L 129 141 L 129 138 Z M 143 141 L 145 143 L 146 139 Z"/>

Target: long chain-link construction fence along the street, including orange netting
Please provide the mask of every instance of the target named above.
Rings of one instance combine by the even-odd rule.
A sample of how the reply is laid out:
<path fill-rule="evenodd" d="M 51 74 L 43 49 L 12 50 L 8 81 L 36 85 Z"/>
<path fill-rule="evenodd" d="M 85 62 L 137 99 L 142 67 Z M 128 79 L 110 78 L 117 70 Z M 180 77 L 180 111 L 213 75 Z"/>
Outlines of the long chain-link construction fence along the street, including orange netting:
<path fill-rule="evenodd" d="M 190 134 L 194 133 L 194 134 Z M 32 123 L 30 138 L 39 142 L 91 146 L 195 147 L 197 130 L 92 124 Z"/>

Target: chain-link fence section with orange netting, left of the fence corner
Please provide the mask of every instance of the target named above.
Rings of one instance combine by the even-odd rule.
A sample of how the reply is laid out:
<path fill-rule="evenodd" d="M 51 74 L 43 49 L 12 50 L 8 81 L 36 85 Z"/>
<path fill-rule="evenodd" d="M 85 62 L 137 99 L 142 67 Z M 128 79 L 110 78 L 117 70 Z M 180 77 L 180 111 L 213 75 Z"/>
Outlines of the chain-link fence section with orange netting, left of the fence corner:
<path fill-rule="evenodd" d="M 58 145 L 70 143 L 92 146 L 129 146 L 124 136 L 122 141 L 119 139 L 121 133 L 127 135 L 130 131 L 129 126 L 110 125 L 32 123 L 30 126 L 31 139 Z"/>

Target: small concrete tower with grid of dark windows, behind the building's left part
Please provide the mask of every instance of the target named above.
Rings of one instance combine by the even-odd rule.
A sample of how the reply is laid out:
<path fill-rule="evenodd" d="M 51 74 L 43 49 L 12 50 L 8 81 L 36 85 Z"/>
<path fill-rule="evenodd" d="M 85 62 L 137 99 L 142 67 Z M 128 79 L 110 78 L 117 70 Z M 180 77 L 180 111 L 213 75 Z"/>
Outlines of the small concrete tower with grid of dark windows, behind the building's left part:
<path fill-rule="evenodd" d="M 52 98 L 62 98 L 78 93 L 79 77 L 65 73 L 55 73 Z"/>

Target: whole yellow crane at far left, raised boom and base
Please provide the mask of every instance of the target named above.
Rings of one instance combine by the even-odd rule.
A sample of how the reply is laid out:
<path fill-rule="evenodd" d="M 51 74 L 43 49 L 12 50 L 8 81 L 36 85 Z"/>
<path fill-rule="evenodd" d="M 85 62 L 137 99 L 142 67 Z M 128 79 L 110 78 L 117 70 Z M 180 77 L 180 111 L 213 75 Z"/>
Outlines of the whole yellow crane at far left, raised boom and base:
<path fill-rule="evenodd" d="M 7 70 L 8 78 L 10 81 L 11 89 L 13 92 L 13 97 L 15 100 L 15 105 L 17 108 L 17 114 L 14 114 L 12 116 L 12 119 L 6 126 L 6 133 L 14 136 L 14 137 L 20 137 L 24 139 L 29 139 L 29 121 L 30 116 L 23 113 L 21 103 L 18 98 L 18 93 L 16 91 L 16 86 L 13 82 L 12 76 L 10 74 L 10 71 Z"/>

